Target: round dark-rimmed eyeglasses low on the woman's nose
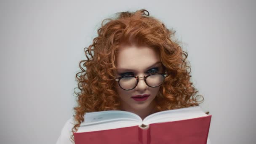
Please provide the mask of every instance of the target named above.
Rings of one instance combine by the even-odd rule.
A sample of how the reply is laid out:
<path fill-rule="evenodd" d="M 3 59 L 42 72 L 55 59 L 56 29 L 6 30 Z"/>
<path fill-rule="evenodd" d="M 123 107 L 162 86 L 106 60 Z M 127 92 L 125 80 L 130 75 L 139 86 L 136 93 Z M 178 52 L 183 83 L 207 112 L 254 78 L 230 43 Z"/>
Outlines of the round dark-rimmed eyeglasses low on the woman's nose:
<path fill-rule="evenodd" d="M 168 75 L 166 72 L 165 74 L 153 73 L 144 77 L 139 77 L 139 76 L 135 77 L 134 75 L 125 75 L 122 77 L 117 77 L 115 78 L 115 80 L 118 81 L 118 85 L 120 86 L 120 88 L 122 88 L 123 90 L 129 91 L 138 85 L 139 78 L 144 78 L 145 83 L 149 87 L 156 88 L 164 82 L 164 79 L 167 76 Z"/>

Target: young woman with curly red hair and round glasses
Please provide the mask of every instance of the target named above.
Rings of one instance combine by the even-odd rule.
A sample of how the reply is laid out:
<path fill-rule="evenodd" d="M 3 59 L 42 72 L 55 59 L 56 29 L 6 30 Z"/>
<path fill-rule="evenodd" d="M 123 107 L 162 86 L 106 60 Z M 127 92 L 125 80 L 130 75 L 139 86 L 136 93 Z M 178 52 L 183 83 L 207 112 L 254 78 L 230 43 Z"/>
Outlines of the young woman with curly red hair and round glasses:
<path fill-rule="evenodd" d="M 85 48 L 87 60 L 80 61 L 75 115 L 64 125 L 57 144 L 74 142 L 72 132 L 86 112 L 124 110 L 144 119 L 202 102 L 190 82 L 187 53 L 172 39 L 174 32 L 148 11 L 105 19 L 98 35 Z"/>

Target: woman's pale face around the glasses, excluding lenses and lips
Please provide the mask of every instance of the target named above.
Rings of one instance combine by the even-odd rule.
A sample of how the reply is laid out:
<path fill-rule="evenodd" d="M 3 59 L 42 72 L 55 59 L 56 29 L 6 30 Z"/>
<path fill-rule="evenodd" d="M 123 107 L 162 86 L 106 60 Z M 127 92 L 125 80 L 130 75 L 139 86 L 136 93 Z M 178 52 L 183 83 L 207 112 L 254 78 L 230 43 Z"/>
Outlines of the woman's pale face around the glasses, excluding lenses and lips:
<path fill-rule="evenodd" d="M 123 46 L 117 52 L 117 74 L 116 77 L 123 75 L 134 75 L 144 77 L 150 73 L 163 73 L 163 67 L 157 53 L 153 48 Z M 121 99 L 122 109 L 125 111 L 137 111 L 155 107 L 154 99 L 160 87 L 149 87 L 144 78 L 140 78 L 138 85 L 132 90 L 125 91 L 116 82 L 117 93 Z M 146 100 L 134 99 L 134 96 L 149 95 Z M 143 101 L 144 100 L 144 101 Z"/>

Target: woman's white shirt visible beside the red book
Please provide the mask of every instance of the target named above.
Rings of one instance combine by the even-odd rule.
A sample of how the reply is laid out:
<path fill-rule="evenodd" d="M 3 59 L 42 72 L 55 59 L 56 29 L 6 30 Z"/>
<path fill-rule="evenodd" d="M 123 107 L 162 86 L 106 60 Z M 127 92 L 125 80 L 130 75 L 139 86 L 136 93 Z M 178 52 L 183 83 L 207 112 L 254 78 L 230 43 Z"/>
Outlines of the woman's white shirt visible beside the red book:
<path fill-rule="evenodd" d="M 73 144 L 70 141 L 70 136 L 72 135 L 72 128 L 74 127 L 74 119 L 71 117 L 65 123 L 64 127 L 61 130 L 61 134 L 56 144 Z M 211 144 L 209 138 L 207 139 L 207 144 Z"/>

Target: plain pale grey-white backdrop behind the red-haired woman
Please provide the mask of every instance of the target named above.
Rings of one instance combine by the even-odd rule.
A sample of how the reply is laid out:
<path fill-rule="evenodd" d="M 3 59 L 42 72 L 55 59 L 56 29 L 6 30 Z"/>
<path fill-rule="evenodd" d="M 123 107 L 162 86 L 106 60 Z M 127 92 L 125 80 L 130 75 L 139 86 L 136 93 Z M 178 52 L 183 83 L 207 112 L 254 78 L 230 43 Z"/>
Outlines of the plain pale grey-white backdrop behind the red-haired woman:
<path fill-rule="evenodd" d="M 256 2 L 0 1 L 0 143 L 55 144 L 75 106 L 83 48 L 103 19 L 145 8 L 176 30 L 213 115 L 212 144 L 255 144 Z"/>

